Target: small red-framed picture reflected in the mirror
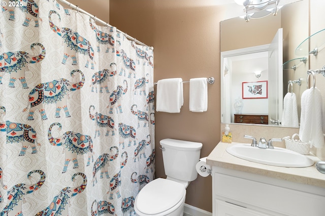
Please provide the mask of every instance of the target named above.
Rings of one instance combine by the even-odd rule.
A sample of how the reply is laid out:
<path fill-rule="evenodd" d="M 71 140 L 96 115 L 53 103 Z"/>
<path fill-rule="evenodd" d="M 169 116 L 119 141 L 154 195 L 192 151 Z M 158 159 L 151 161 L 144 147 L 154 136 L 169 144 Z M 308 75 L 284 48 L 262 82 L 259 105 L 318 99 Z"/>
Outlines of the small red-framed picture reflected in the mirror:
<path fill-rule="evenodd" d="M 268 81 L 242 82 L 243 99 L 268 98 Z"/>

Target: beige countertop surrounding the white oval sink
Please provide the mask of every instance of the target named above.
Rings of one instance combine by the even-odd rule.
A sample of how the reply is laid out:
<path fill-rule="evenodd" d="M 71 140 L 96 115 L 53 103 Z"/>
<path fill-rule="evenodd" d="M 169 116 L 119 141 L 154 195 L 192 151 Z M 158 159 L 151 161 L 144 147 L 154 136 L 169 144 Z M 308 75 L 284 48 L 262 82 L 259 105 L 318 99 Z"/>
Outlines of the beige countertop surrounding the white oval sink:
<path fill-rule="evenodd" d="M 207 157 L 207 164 L 325 188 L 325 174 L 321 174 L 316 169 L 315 163 L 319 161 L 319 158 L 316 156 L 307 155 L 315 162 L 314 165 L 309 167 L 288 168 L 271 166 L 243 160 L 226 152 L 228 146 L 235 144 L 239 143 L 219 142 Z"/>

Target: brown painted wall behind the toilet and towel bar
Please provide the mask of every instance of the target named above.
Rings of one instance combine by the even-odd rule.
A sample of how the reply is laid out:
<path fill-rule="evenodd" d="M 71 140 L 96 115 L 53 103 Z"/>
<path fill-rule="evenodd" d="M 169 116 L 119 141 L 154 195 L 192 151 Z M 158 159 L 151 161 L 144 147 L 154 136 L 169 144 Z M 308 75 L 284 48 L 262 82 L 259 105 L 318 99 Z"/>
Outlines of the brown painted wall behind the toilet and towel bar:
<path fill-rule="evenodd" d="M 154 47 L 154 81 L 164 78 L 214 76 L 208 86 L 208 111 L 188 108 L 189 84 L 184 83 L 180 113 L 156 112 L 156 177 L 166 177 L 159 140 L 202 142 L 201 157 L 220 140 L 220 46 L 222 19 L 213 0 L 110 0 L 110 24 Z M 212 211 L 211 177 L 198 177 L 187 188 L 186 203 Z"/>

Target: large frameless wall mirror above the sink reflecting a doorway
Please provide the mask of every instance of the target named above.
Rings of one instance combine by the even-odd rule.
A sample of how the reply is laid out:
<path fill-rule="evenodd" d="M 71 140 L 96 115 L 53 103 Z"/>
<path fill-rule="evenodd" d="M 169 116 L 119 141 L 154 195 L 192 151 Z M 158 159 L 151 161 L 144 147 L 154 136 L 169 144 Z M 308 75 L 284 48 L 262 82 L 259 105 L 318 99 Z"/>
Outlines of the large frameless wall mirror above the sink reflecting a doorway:
<path fill-rule="evenodd" d="M 282 58 L 280 56 L 278 62 L 280 71 L 275 73 L 275 63 L 268 62 L 268 59 L 272 56 L 269 47 L 278 29 L 282 29 Z M 235 114 L 241 114 L 241 117 L 258 118 L 258 121 L 249 120 L 248 123 L 281 125 L 283 96 L 288 91 L 288 81 L 302 79 L 301 85 L 293 82 L 289 89 L 297 96 L 300 119 L 300 99 L 306 90 L 309 61 L 308 53 L 301 56 L 295 51 L 308 36 L 308 0 L 286 4 L 276 16 L 250 19 L 249 22 L 240 17 L 221 21 L 221 123 L 240 122 L 235 120 Z M 260 75 L 256 75 L 256 71 L 261 72 Z M 249 86 L 264 88 L 263 95 L 245 95 Z M 276 91 L 277 100 L 272 95 Z M 271 107 L 273 105 L 275 107 Z"/>

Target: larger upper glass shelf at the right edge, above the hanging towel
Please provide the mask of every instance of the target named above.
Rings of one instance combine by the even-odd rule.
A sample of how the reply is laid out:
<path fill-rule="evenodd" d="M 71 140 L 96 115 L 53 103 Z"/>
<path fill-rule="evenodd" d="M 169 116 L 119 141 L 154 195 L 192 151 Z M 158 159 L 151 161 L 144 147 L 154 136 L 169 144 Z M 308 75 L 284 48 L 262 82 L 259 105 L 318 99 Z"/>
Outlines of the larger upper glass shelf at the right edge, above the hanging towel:
<path fill-rule="evenodd" d="M 307 37 L 301 44 L 297 47 L 295 54 L 298 56 L 308 56 L 313 54 L 317 56 L 318 52 L 325 47 L 325 29 L 322 29 L 309 37 Z M 312 42 L 310 42 L 312 41 Z M 311 47 L 309 48 L 309 43 Z"/>

